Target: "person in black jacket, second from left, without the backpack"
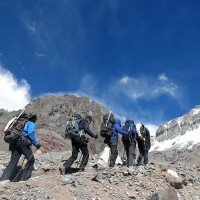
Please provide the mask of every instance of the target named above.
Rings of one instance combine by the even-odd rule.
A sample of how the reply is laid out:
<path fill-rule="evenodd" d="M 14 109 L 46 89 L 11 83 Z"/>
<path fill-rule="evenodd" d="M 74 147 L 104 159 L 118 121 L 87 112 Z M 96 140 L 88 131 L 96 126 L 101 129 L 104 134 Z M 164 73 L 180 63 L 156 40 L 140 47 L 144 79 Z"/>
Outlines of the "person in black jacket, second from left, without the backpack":
<path fill-rule="evenodd" d="M 84 171 L 85 167 L 88 163 L 89 159 L 89 151 L 88 151 L 88 139 L 85 136 L 85 133 L 90 135 L 92 138 L 97 139 L 98 134 L 92 133 L 92 131 L 89 128 L 89 125 L 92 122 L 92 117 L 90 115 L 87 115 L 84 120 L 80 122 L 79 130 L 81 130 L 80 134 L 75 136 L 73 139 L 71 139 L 72 144 L 72 155 L 71 157 L 63 164 L 63 167 L 59 168 L 59 171 L 61 174 L 66 174 L 66 171 L 68 168 L 70 168 L 74 161 L 78 157 L 78 152 L 81 150 L 83 157 L 80 163 L 79 171 Z"/>

